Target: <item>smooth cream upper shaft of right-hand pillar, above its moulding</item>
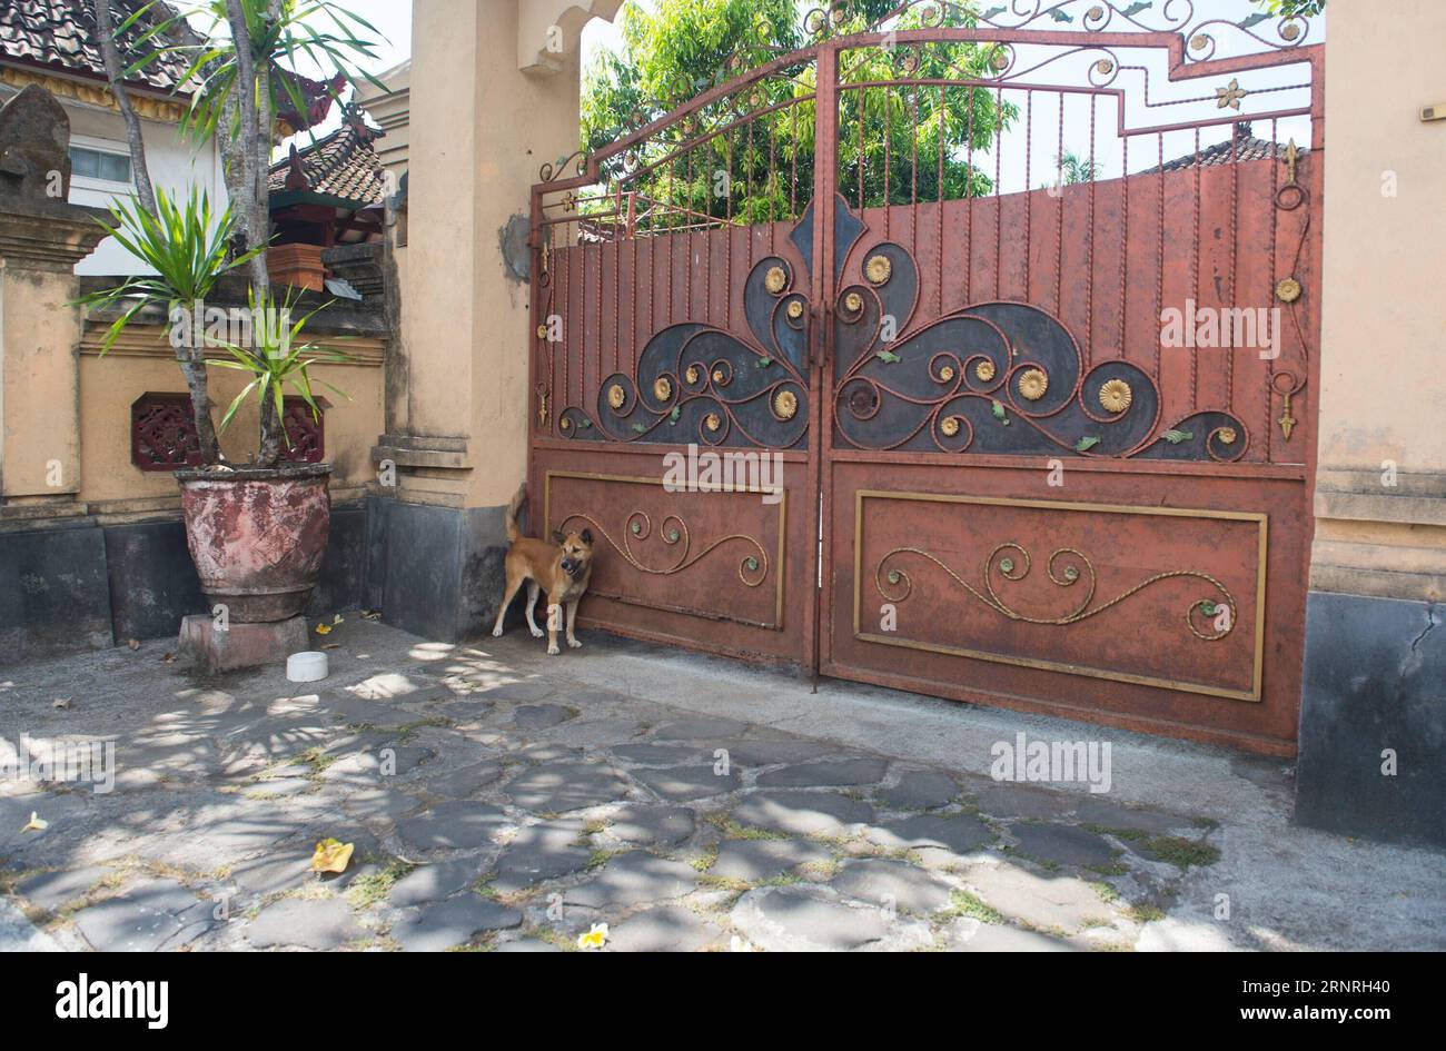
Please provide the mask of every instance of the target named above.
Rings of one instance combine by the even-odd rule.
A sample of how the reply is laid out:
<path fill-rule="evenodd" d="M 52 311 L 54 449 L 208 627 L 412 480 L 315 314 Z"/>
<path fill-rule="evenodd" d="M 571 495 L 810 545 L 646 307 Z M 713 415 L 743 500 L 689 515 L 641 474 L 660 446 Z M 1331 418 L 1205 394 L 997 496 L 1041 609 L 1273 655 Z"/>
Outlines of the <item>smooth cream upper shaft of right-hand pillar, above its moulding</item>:
<path fill-rule="evenodd" d="M 1417 111 L 1446 104 L 1446 4 L 1332 0 L 1329 17 L 1320 464 L 1442 471 L 1446 120 Z"/>

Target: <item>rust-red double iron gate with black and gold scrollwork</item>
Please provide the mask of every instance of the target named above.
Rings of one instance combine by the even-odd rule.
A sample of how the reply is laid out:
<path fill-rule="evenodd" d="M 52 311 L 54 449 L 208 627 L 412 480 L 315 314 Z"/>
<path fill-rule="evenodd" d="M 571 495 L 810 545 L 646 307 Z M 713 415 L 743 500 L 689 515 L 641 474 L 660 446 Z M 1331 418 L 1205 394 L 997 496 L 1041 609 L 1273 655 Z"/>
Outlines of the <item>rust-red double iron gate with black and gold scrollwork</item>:
<path fill-rule="evenodd" d="M 1290 753 L 1309 25 L 1066 0 L 808 27 L 534 188 L 534 509 L 600 536 L 584 619 Z"/>

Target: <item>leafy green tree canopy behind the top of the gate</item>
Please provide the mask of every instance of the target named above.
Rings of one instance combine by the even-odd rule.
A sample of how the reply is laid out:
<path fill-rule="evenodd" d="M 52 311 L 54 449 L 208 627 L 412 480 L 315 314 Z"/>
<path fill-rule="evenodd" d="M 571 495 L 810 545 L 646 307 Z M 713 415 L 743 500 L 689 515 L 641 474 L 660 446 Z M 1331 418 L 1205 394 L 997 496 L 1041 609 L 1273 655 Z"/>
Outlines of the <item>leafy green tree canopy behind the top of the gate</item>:
<path fill-rule="evenodd" d="M 836 32 L 857 32 L 897 0 L 857 0 Z M 904 13 L 898 29 L 921 25 Z M 946 25 L 972 25 L 950 7 Z M 583 149 L 593 153 L 677 106 L 807 42 L 804 7 L 794 0 L 658 0 L 619 14 L 620 46 L 602 52 L 583 85 Z M 936 23 L 937 25 L 937 23 Z M 993 189 L 970 163 L 1015 116 L 989 88 L 918 84 L 988 72 L 996 45 L 937 43 L 850 51 L 840 64 L 837 155 L 840 191 L 856 205 L 907 204 L 982 195 Z M 795 218 L 813 195 L 814 88 L 811 62 L 745 82 L 603 165 L 625 191 L 662 205 L 655 224 L 700 218 L 740 223 Z M 849 88 L 850 84 L 886 85 Z M 691 143 L 691 145 L 688 145 Z"/>

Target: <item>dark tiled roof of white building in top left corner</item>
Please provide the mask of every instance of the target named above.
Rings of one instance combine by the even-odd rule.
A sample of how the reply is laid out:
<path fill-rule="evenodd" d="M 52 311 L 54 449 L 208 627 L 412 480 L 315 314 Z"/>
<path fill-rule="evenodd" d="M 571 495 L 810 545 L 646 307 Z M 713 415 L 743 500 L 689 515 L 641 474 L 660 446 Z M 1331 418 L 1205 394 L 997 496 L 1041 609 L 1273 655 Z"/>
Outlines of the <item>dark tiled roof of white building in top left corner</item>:
<path fill-rule="evenodd" d="M 147 0 L 114 0 L 111 19 L 120 26 Z M 165 3 L 150 4 L 117 40 L 120 61 L 129 65 L 142 53 L 155 51 L 162 40 L 152 38 L 140 48 L 134 40 L 152 26 L 168 22 L 175 10 Z M 4 0 L 0 3 L 0 62 L 23 62 L 65 72 L 106 77 L 100 53 L 94 6 L 90 0 Z M 161 55 L 130 78 L 156 91 L 172 91 L 185 75 L 188 62 L 181 53 Z"/>

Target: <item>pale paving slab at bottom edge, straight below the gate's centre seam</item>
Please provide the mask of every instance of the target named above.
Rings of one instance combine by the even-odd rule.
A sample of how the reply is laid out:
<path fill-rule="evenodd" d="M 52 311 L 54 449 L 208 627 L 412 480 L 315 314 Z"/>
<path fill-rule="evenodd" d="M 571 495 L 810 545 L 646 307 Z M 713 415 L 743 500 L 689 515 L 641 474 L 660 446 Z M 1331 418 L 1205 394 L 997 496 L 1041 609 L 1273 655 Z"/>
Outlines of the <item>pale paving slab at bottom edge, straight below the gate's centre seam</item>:
<path fill-rule="evenodd" d="M 749 891 L 729 922 L 753 945 L 774 953 L 843 953 L 882 948 L 885 911 L 840 901 L 824 888 L 766 886 Z"/>

